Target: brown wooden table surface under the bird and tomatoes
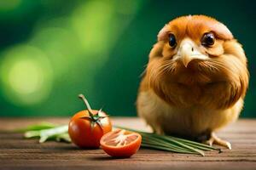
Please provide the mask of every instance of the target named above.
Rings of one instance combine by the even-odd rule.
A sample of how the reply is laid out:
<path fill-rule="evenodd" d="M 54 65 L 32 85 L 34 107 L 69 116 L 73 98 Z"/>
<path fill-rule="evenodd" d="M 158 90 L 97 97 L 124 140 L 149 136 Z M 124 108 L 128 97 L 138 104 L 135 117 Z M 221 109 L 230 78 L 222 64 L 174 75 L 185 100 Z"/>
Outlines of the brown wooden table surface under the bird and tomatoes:
<path fill-rule="evenodd" d="M 35 122 L 68 122 L 67 118 L 0 118 L 0 169 L 256 169 L 256 120 L 239 120 L 218 133 L 232 150 L 206 152 L 206 156 L 141 149 L 126 159 L 113 159 L 103 150 L 80 150 L 73 144 L 23 139 L 9 133 Z M 113 124 L 150 130 L 138 118 L 113 118 Z"/>

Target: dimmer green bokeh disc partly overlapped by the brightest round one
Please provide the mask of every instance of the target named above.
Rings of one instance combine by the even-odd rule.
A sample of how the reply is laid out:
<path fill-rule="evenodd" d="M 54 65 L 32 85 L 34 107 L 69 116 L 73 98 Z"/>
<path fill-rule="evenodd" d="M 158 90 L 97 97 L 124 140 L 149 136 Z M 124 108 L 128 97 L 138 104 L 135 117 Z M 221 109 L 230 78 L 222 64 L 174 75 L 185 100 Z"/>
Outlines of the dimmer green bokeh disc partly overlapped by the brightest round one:
<path fill-rule="evenodd" d="M 81 45 L 73 31 L 64 27 L 45 27 L 35 31 L 32 39 L 28 42 L 47 54 L 50 62 L 54 65 L 55 78 L 67 74 L 67 68 L 73 68 L 79 62 Z"/>

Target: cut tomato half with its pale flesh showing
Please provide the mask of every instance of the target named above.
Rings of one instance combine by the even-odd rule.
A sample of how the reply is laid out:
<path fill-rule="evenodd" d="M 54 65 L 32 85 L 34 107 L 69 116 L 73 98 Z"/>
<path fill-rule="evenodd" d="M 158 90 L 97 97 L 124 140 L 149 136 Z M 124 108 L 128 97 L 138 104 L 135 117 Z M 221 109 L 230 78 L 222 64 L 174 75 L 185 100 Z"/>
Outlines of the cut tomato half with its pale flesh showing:
<path fill-rule="evenodd" d="M 109 156 L 130 157 L 137 152 L 142 143 L 139 133 L 116 129 L 102 136 L 101 145 Z"/>

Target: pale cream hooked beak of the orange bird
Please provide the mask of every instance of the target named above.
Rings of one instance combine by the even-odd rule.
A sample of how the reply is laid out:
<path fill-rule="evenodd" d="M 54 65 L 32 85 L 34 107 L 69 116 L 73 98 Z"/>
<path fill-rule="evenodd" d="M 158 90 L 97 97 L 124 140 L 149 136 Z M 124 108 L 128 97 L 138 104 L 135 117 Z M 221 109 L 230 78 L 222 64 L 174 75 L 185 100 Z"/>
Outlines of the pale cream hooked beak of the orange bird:
<path fill-rule="evenodd" d="M 201 54 L 195 42 L 190 39 L 185 39 L 181 42 L 177 55 L 180 56 L 185 67 L 188 67 L 190 61 L 193 59 L 208 59 L 208 56 Z"/>

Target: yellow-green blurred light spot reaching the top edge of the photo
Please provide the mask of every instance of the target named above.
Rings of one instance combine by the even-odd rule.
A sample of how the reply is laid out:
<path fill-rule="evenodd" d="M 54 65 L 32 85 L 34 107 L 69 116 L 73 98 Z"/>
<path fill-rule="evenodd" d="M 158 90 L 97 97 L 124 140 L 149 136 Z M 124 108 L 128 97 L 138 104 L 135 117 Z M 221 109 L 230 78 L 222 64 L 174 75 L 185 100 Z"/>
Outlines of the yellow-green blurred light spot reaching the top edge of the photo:
<path fill-rule="evenodd" d="M 108 45 L 112 42 L 111 33 L 113 33 L 109 31 L 113 24 L 111 2 L 88 1 L 74 10 L 71 22 L 74 32 L 78 34 L 87 53 L 102 53 L 102 50 L 108 49 Z"/>

